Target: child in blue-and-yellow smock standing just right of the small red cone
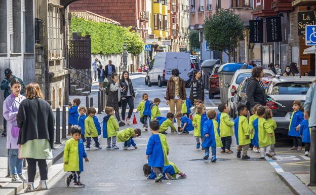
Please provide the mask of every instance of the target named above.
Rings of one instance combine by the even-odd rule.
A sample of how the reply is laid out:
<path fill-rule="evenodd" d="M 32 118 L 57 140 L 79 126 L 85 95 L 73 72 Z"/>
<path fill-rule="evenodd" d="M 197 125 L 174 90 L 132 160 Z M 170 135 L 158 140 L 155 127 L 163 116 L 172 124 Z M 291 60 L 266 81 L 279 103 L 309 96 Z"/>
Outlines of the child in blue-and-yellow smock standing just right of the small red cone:
<path fill-rule="evenodd" d="M 148 100 L 148 94 L 144 93 L 142 95 L 142 101 L 139 103 L 137 110 L 136 110 L 136 113 L 140 112 L 139 113 L 140 122 L 143 124 L 145 131 L 148 131 L 147 119 L 151 113 L 151 110 L 150 110 L 151 104 L 152 104 L 152 101 Z"/>

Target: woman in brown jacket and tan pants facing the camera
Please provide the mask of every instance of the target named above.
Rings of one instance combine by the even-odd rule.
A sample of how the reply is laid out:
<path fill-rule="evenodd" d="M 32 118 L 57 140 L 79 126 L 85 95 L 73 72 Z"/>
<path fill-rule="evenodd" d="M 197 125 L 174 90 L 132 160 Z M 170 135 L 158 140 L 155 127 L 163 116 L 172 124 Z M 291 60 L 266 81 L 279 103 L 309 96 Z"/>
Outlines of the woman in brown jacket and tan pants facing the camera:
<path fill-rule="evenodd" d="M 177 112 L 181 111 L 182 103 L 186 99 L 184 80 L 179 76 L 179 70 L 173 69 L 171 71 L 172 76 L 167 82 L 166 90 L 166 104 L 170 107 L 170 112 L 175 113 L 175 107 Z M 178 130 L 181 130 L 181 122 L 177 120 Z"/>

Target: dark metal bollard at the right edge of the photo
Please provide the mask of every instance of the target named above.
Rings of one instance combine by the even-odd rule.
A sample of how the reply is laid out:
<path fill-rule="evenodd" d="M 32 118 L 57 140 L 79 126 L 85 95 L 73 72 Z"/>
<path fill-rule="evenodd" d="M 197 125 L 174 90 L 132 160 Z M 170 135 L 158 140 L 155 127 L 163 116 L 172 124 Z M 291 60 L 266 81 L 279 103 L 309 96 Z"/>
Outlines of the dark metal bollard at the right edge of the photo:
<path fill-rule="evenodd" d="M 310 131 L 310 174 L 308 186 L 316 186 L 316 127 Z"/>

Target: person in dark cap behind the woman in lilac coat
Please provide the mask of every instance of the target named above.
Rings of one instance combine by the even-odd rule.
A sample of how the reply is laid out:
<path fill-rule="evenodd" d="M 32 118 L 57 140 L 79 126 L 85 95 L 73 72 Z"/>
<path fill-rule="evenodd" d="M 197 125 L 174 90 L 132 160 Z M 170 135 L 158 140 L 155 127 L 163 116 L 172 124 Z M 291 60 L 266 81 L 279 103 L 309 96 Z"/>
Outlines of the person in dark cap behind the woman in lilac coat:
<path fill-rule="evenodd" d="M 4 90 L 4 97 L 5 97 L 5 99 L 11 94 L 10 82 L 13 79 L 17 79 L 21 83 L 20 94 L 23 95 L 24 94 L 24 89 L 25 89 L 24 82 L 19 77 L 16 77 L 15 75 L 13 75 L 10 68 L 5 69 L 5 75 L 6 75 L 6 77 L 5 77 L 4 80 L 2 80 L 1 87 L 0 87 L 1 90 Z M 7 121 L 6 121 L 6 118 L 4 118 L 4 132 L 1 135 L 2 136 L 7 136 Z"/>

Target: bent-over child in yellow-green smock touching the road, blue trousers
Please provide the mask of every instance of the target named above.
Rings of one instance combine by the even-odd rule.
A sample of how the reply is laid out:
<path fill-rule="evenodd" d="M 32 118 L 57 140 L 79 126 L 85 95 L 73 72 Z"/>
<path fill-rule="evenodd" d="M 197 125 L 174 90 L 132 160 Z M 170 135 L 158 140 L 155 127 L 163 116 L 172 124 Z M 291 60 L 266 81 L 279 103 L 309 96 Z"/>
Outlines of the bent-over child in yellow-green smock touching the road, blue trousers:
<path fill-rule="evenodd" d="M 117 133 L 117 142 L 124 142 L 124 150 L 128 150 L 131 147 L 131 144 L 137 149 L 138 147 L 133 138 L 139 137 L 140 135 L 140 129 L 127 128 Z"/>

